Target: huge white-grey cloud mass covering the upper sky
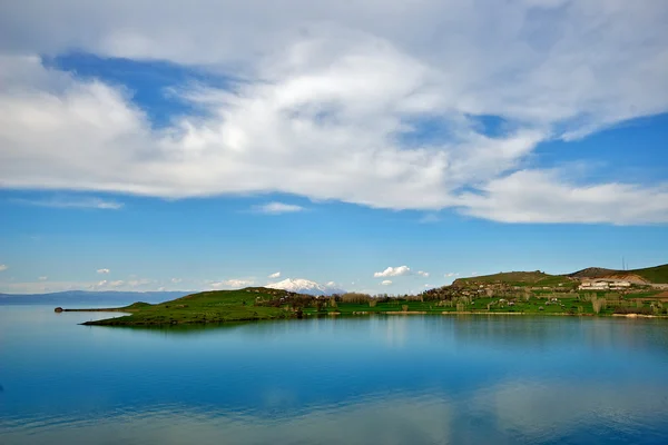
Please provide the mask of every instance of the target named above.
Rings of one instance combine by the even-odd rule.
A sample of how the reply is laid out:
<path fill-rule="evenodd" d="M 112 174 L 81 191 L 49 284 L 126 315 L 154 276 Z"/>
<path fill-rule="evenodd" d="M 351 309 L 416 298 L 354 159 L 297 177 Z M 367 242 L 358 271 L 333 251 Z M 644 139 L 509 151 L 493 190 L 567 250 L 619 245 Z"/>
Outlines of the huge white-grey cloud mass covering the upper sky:
<path fill-rule="evenodd" d="M 285 192 L 509 222 L 668 221 L 665 185 L 531 169 L 540 142 L 668 110 L 665 2 L 89 3 L 0 14 L 2 188 Z M 35 56 L 72 48 L 244 81 L 175 89 L 204 112 L 155 129 L 122 88 Z M 481 116 L 499 117 L 501 131 L 489 136 Z M 554 196 L 539 200 L 532 178 Z"/>

